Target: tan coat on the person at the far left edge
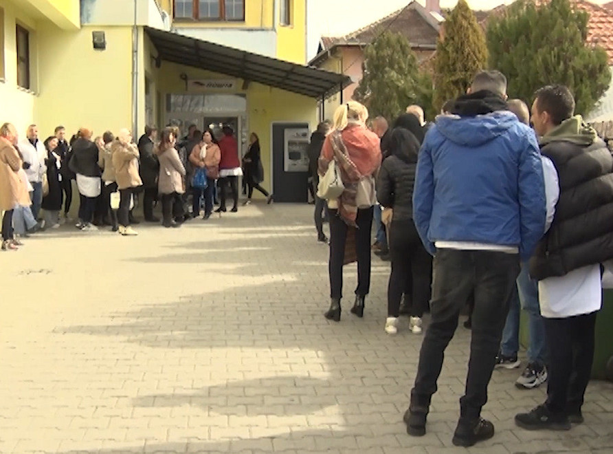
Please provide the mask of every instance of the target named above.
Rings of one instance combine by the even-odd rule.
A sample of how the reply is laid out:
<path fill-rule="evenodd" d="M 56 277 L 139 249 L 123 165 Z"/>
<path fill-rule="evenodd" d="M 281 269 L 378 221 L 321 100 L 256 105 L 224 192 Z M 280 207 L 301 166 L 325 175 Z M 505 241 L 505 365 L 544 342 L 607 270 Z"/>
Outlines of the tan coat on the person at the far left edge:
<path fill-rule="evenodd" d="M 5 138 L 0 137 L 0 210 L 12 210 L 16 204 L 30 206 L 30 194 L 21 181 L 19 169 L 23 162 L 19 153 Z M 25 173 L 21 172 L 25 177 Z"/>

